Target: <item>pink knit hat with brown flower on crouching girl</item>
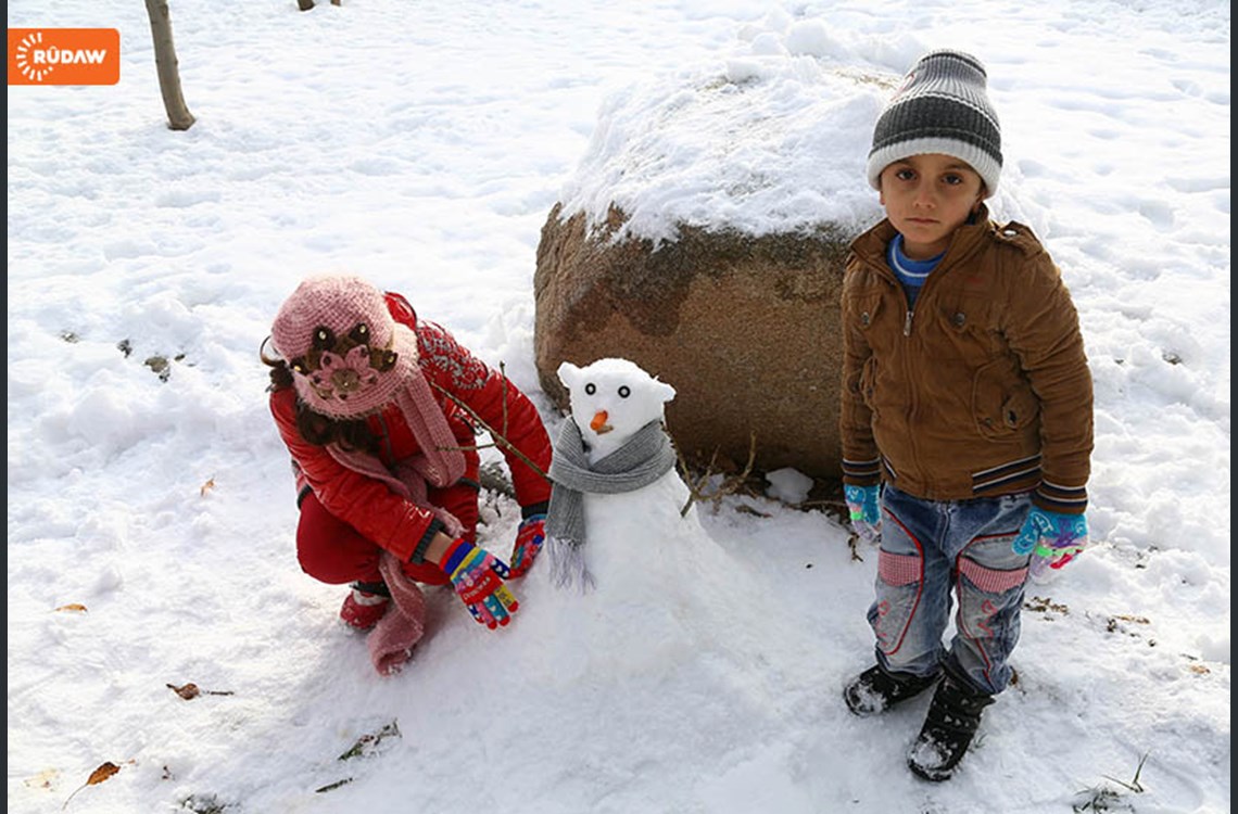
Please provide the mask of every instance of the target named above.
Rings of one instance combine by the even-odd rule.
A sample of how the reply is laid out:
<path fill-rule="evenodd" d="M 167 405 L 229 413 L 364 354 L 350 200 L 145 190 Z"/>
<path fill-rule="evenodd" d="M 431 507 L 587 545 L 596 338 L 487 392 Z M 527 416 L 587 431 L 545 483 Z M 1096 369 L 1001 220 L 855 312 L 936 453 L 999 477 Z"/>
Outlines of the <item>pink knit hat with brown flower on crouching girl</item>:
<path fill-rule="evenodd" d="M 329 418 L 378 411 L 417 361 L 417 338 L 383 292 L 350 275 L 307 277 L 275 315 L 271 343 L 302 401 Z"/>

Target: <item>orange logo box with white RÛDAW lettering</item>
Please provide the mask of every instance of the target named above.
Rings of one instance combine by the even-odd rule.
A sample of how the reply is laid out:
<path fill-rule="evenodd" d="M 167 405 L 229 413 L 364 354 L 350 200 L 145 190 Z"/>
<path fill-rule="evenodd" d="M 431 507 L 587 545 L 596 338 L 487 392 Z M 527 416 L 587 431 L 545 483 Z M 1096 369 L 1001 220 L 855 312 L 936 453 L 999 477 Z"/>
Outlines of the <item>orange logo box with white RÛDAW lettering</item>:
<path fill-rule="evenodd" d="M 9 84 L 114 85 L 120 82 L 115 28 L 9 28 Z"/>

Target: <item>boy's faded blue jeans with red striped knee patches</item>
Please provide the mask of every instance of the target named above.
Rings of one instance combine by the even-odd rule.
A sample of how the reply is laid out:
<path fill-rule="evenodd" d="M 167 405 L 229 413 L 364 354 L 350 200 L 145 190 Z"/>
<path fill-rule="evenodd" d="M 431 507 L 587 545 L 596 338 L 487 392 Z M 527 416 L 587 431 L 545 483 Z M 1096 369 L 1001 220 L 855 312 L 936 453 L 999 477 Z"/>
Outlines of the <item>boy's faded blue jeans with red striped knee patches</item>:
<path fill-rule="evenodd" d="M 933 501 L 885 486 L 877 598 L 868 611 L 883 667 L 915 675 L 945 667 L 976 690 L 1005 689 L 1029 562 L 1010 543 L 1030 508 L 1029 494 Z M 942 636 L 956 598 L 947 649 Z"/>

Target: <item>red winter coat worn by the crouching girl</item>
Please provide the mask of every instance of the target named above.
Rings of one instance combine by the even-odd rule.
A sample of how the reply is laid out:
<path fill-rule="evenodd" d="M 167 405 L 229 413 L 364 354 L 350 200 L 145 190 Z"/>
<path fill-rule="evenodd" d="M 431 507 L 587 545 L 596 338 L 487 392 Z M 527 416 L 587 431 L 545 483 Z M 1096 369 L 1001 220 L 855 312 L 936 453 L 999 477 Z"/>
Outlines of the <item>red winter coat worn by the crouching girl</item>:
<path fill-rule="evenodd" d="M 464 479 L 477 482 L 480 459 L 475 449 L 468 448 L 475 447 L 478 440 L 469 413 L 442 391 L 477 413 L 542 473 L 548 471 L 550 437 L 534 403 L 501 374 L 489 369 L 459 345 L 444 328 L 431 322 L 418 322 L 402 296 L 387 293 L 386 303 L 396 322 L 417 334 L 421 372 L 430 382 L 430 390 L 442 407 L 459 445 L 467 448 Z M 293 387 L 271 392 L 271 413 L 280 437 L 300 469 L 298 481 L 303 480 L 313 490 L 328 512 L 395 554 L 400 562 L 409 562 L 417 543 L 430 531 L 433 513 L 409 502 L 383 481 L 345 468 L 326 448 L 302 439 L 297 432 L 296 409 L 297 393 Z M 370 416 L 366 423 L 381 440 L 379 458 L 384 464 L 390 466 L 420 452 L 412 431 L 394 403 Z M 499 449 L 511 471 L 516 502 L 521 507 L 529 507 L 548 501 L 550 482 L 515 453 L 504 449 L 501 444 Z"/>

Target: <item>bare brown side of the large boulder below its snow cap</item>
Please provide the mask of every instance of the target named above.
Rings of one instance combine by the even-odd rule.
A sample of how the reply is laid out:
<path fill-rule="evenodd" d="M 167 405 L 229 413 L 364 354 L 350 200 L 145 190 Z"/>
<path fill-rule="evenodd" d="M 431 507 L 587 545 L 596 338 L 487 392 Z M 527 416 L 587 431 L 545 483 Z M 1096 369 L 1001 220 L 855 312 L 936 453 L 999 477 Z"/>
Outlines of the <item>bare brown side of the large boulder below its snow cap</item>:
<path fill-rule="evenodd" d="M 629 359 L 677 391 L 671 437 L 693 465 L 841 475 L 839 289 L 848 235 L 749 236 L 681 228 L 678 239 L 613 241 L 581 213 L 542 226 L 534 277 L 542 390 L 561 408 L 558 365 Z"/>

